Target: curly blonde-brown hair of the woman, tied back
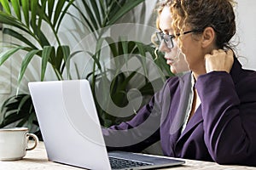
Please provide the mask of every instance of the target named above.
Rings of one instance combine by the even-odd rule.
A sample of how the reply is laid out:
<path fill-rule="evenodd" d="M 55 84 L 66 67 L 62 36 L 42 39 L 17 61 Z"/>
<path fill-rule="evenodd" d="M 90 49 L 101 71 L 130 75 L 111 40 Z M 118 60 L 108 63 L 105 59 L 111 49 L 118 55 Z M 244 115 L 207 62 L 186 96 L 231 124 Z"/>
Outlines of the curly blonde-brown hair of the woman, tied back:
<path fill-rule="evenodd" d="M 175 34 L 183 35 L 187 26 L 201 31 L 212 27 L 216 32 L 216 46 L 230 48 L 230 39 L 236 34 L 235 5 L 233 0 L 166 0 L 160 3 L 158 13 L 166 6 L 170 8 Z M 159 28 L 159 19 L 156 26 Z"/>

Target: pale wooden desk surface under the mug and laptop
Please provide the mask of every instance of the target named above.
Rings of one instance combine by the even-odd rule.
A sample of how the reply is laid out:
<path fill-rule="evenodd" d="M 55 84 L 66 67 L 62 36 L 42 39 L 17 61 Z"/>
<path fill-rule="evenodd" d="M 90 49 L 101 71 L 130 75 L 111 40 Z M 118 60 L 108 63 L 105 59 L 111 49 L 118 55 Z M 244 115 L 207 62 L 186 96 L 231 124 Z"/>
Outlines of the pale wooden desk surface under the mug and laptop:
<path fill-rule="evenodd" d="M 203 170 L 218 170 L 218 169 L 256 169 L 256 167 L 242 167 L 242 166 L 222 166 L 214 162 L 207 161 L 194 161 L 184 160 L 186 163 L 183 166 L 171 167 L 172 170 L 190 170 L 190 169 L 203 169 Z M 26 156 L 19 161 L 0 161 L 0 169 L 4 170 L 81 170 L 83 168 L 72 167 L 55 163 L 47 160 L 46 150 L 44 143 L 40 142 L 35 150 L 26 152 Z"/>

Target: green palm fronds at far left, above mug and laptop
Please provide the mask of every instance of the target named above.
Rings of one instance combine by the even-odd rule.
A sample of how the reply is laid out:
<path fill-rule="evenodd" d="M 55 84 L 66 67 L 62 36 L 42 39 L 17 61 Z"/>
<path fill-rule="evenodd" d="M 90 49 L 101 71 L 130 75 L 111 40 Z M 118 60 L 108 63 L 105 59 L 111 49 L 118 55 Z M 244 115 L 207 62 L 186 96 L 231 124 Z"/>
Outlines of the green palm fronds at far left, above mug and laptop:
<path fill-rule="evenodd" d="M 17 43 L 9 43 L 4 48 L 3 53 L 0 55 L 0 65 L 3 65 L 15 53 L 19 51 L 25 52 L 20 65 L 18 89 L 26 68 L 30 65 L 33 57 L 42 59 L 41 81 L 44 81 L 48 64 L 55 71 L 57 79 L 63 79 L 63 71 L 65 68 L 68 71 L 68 59 L 73 54 L 70 54 L 69 46 L 61 43 L 58 31 L 64 15 L 67 14 L 67 9 L 73 5 L 73 2 L 74 0 L 60 0 L 55 5 L 55 1 L 50 0 L 0 1 L 3 6 L 3 10 L 0 11 L 0 22 L 4 26 L 9 26 L 3 28 L 3 34 L 9 35 L 17 41 Z M 50 37 L 55 37 L 57 45 L 49 41 L 42 29 L 43 25 L 49 26 L 51 30 Z M 38 125 L 29 94 L 11 96 L 3 103 L 2 112 L 3 120 L 0 127 L 14 122 L 17 122 L 16 126 L 26 125 L 32 127 L 32 125 Z M 36 127 L 36 133 L 38 133 L 38 127 Z"/>

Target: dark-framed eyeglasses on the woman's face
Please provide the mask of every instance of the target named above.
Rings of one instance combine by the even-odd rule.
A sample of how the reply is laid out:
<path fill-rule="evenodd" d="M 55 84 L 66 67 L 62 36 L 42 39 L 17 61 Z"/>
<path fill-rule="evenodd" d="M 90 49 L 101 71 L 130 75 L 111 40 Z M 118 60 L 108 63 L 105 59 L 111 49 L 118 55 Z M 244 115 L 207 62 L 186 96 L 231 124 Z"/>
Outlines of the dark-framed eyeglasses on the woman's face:
<path fill-rule="evenodd" d="M 183 32 L 183 35 L 185 34 L 189 34 L 191 32 L 199 32 L 200 30 L 191 30 L 191 31 L 184 31 Z M 168 35 L 168 34 L 165 34 L 163 31 L 160 31 L 160 32 L 156 32 L 156 37 L 159 41 L 159 44 L 164 40 L 164 42 L 166 43 L 166 46 L 168 48 L 173 48 L 174 47 L 174 43 L 173 43 L 173 38 L 175 37 L 179 37 L 181 34 L 176 34 L 176 36 L 174 35 Z"/>

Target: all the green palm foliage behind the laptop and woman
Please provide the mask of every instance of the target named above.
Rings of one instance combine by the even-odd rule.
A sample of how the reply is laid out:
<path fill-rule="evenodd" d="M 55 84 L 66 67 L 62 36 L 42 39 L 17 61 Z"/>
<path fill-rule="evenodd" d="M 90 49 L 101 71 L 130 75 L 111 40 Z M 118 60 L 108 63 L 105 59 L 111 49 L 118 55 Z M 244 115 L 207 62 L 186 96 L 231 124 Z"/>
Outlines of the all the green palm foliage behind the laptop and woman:
<path fill-rule="evenodd" d="M 91 70 L 84 76 L 80 76 L 79 67 L 76 68 L 76 78 L 86 78 L 90 80 L 91 88 L 95 99 L 96 91 L 105 91 L 111 96 L 113 103 L 119 107 L 129 105 L 131 98 L 137 98 L 137 94 L 127 97 L 132 89 L 137 88 L 143 96 L 143 104 L 147 103 L 150 96 L 158 89 L 154 89 L 152 83 L 158 83 L 159 88 L 165 82 L 166 77 L 172 76 L 169 65 L 158 51 L 155 50 L 153 43 L 130 41 L 119 38 L 114 42 L 112 37 L 105 37 L 104 29 L 113 26 L 131 10 L 145 0 L 1 0 L 3 9 L 0 11 L 0 22 L 3 23 L 3 34 L 15 38 L 14 42 L 5 42 L 3 53 L 0 54 L 0 65 L 14 58 L 16 53 L 22 51 L 24 54 L 20 63 L 19 76 L 17 77 L 17 94 L 10 96 L 2 105 L 2 119 L 0 127 L 6 127 L 15 124 L 17 127 L 26 126 L 32 129 L 32 133 L 40 135 L 37 117 L 32 105 L 30 94 L 20 94 L 19 87 L 24 78 L 28 65 L 31 65 L 33 58 L 41 59 L 40 80 L 45 80 L 47 74 L 47 65 L 55 72 L 57 80 L 73 79 L 71 71 L 71 60 L 81 53 L 81 51 L 71 51 L 70 44 L 61 42 L 59 31 L 64 18 L 68 15 L 74 20 L 78 20 L 84 26 L 84 29 L 90 32 L 96 39 L 96 48 L 93 53 L 87 53 L 93 60 Z M 75 9 L 80 18 L 69 12 L 70 8 Z M 45 30 L 48 26 L 49 30 Z M 122 35 L 120 35 L 122 36 Z M 148 35 L 149 37 L 151 35 Z M 50 38 L 49 38 L 50 37 Z M 55 39 L 53 42 L 52 39 Z M 105 42 L 105 43 L 104 43 Z M 108 43 L 106 47 L 104 44 Z M 102 54 L 102 48 L 108 48 L 109 54 Z M 137 71 L 120 72 L 104 65 L 104 59 L 118 58 L 124 56 L 124 62 L 129 62 L 132 58 L 137 58 L 143 68 L 143 75 Z M 154 82 L 149 80 L 148 65 L 145 59 L 150 58 L 155 65 L 159 67 L 159 75 Z M 109 77 L 109 75 L 112 75 Z M 137 79 L 140 79 L 140 85 L 137 86 Z M 110 84 L 108 89 L 102 89 L 102 83 Z M 108 105 L 108 98 L 102 95 L 103 105 Z M 96 100 L 96 110 L 102 126 L 109 127 L 122 121 L 131 119 L 136 111 L 128 114 L 129 116 L 113 116 L 108 113 Z M 116 115 L 116 114 L 114 114 Z"/>

